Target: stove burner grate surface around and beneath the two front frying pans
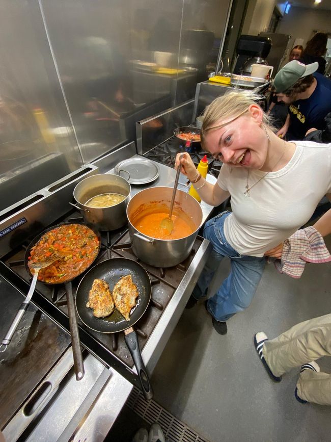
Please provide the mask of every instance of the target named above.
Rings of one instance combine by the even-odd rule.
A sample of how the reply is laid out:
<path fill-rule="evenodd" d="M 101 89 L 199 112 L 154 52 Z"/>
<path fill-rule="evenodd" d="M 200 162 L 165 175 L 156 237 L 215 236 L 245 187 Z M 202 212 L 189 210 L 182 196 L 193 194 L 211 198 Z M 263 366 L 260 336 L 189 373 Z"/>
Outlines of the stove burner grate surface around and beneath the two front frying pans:
<path fill-rule="evenodd" d="M 74 212 L 61 219 L 61 222 L 77 222 L 82 218 Z M 203 238 L 197 237 L 190 256 L 176 267 L 160 269 L 149 266 L 139 261 L 134 255 L 129 233 L 126 227 L 112 232 L 101 232 L 101 249 L 95 264 L 113 257 L 124 257 L 140 262 L 148 272 L 152 282 L 151 302 L 142 316 L 134 325 L 138 335 L 141 350 L 147 343 L 155 325 L 159 321 L 164 308 L 174 295 L 179 283 L 183 279 L 195 252 L 200 247 Z M 14 287 L 22 293 L 27 293 L 31 282 L 31 276 L 24 266 L 24 254 L 30 241 L 27 241 L 19 250 L 9 253 L 0 261 L 2 274 Z M 84 274 L 72 281 L 73 294 L 75 295 L 78 283 Z M 33 303 L 36 304 L 54 322 L 69 332 L 68 310 L 64 284 L 47 285 L 37 282 L 36 292 L 33 295 Z M 94 354 L 106 366 L 113 367 L 131 383 L 140 388 L 139 378 L 132 371 L 133 360 L 124 341 L 124 333 L 99 333 L 82 324 L 78 318 L 79 335 L 81 344 Z"/>

